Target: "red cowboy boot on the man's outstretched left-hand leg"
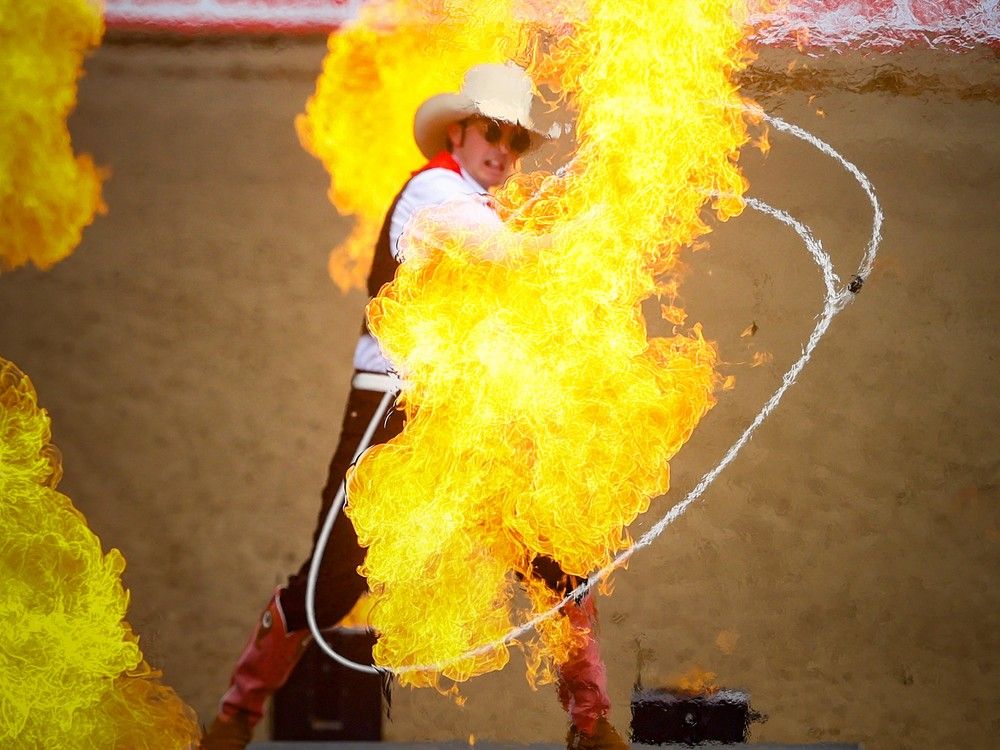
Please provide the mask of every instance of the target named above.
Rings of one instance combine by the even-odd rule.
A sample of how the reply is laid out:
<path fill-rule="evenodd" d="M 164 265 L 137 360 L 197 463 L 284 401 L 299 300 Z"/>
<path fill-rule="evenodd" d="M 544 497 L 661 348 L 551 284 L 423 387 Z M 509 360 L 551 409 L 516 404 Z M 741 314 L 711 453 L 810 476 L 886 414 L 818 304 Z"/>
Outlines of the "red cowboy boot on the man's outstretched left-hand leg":
<path fill-rule="evenodd" d="M 309 631 L 288 633 L 275 590 L 260 624 L 236 661 L 218 716 L 202 737 L 200 750 L 242 750 L 264 715 L 264 703 L 285 684 L 302 656 Z"/>

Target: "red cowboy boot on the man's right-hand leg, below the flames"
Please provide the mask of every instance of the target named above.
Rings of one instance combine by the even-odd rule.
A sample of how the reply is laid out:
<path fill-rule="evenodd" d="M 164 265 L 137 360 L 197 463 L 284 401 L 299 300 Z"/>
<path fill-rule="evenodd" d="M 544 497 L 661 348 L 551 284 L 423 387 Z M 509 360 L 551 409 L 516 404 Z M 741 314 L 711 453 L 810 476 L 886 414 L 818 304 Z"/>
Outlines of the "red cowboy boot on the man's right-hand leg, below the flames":
<path fill-rule="evenodd" d="M 597 607 L 594 598 L 571 602 L 563 612 L 576 630 L 587 632 L 585 643 L 559 666 L 559 700 L 573 726 L 566 737 L 570 750 L 627 748 L 628 744 L 607 720 L 611 708 L 608 674 L 597 645 Z"/>

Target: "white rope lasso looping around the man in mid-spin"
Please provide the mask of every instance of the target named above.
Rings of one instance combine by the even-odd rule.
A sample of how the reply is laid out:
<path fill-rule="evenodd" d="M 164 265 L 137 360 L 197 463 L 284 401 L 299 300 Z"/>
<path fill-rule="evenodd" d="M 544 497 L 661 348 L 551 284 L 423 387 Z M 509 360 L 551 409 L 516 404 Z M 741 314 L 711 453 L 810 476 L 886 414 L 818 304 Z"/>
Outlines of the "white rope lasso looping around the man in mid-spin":
<path fill-rule="evenodd" d="M 516 628 L 512 628 L 503 638 L 499 640 L 487 643 L 475 649 L 471 649 L 461 656 L 454 657 L 438 664 L 421 666 L 409 665 L 394 667 L 391 669 L 371 664 L 359 664 L 338 654 L 323 638 L 323 634 L 316 623 L 315 588 L 319 573 L 319 564 L 322 560 L 323 552 L 326 549 L 327 541 L 329 540 L 330 530 L 333 528 L 333 522 L 344 503 L 344 486 L 343 483 L 341 483 L 340 490 L 337 492 L 333 505 L 327 513 L 323 529 L 316 541 L 316 548 L 313 551 L 312 565 L 309 568 L 309 579 L 306 588 L 306 617 L 309 621 L 309 629 L 312 631 L 312 635 L 316 639 L 316 642 L 320 645 L 320 648 L 322 648 L 328 656 L 334 659 L 334 661 L 350 669 L 368 674 L 386 675 L 405 674 L 408 672 L 440 672 L 450 664 L 482 654 L 487 654 L 498 648 L 505 647 L 507 644 L 534 630 L 545 620 L 557 615 L 560 610 L 562 610 L 562 608 L 571 601 L 579 601 L 597 583 L 603 581 L 615 570 L 622 567 L 636 552 L 652 544 L 653 541 L 663 533 L 667 526 L 683 515 L 683 513 L 695 502 L 695 500 L 704 494 L 705 490 L 708 489 L 712 482 L 715 481 L 716 477 L 722 473 L 722 470 L 732 463 L 733 459 L 735 459 L 739 452 L 743 449 L 743 446 L 750 442 L 750 438 L 753 437 L 753 433 L 757 430 L 757 428 L 760 427 L 764 420 L 771 414 L 771 412 L 774 411 L 775 407 L 777 407 L 778 403 L 785 395 L 785 392 L 795 382 L 799 373 L 802 372 L 802 368 L 804 368 L 806 363 L 809 362 L 809 359 L 812 357 L 812 353 L 819 344 L 820 339 L 823 338 L 823 335 L 830 327 L 830 322 L 833 320 L 834 316 L 843 310 L 853 299 L 854 295 L 861 290 L 861 286 L 871 273 L 872 267 L 875 263 L 875 256 L 878 252 L 878 245 L 882 238 L 883 214 L 882 207 L 879 205 L 878 198 L 875 195 L 875 189 L 872 187 L 871 181 L 869 181 L 860 169 L 858 169 L 851 162 L 847 161 L 847 159 L 838 153 L 832 146 L 797 125 L 792 125 L 791 123 L 785 122 L 778 117 L 767 115 L 760 108 L 749 107 L 748 109 L 751 114 L 760 117 L 776 130 L 783 131 L 800 138 L 801 140 L 815 146 L 822 153 L 838 161 L 854 177 L 854 179 L 858 181 L 872 205 L 872 233 L 868 244 L 865 247 L 864 256 L 858 266 L 857 273 L 853 276 L 851 281 L 846 285 L 842 285 L 840 278 L 833 269 L 833 262 L 830 259 L 830 256 L 825 250 L 823 250 L 822 243 L 813 237 L 812 232 L 807 226 L 799 222 L 787 212 L 774 208 L 763 201 L 757 200 L 756 198 L 744 199 L 747 206 L 788 225 L 799 235 L 799 237 L 802 238 L 809 254 L 819 266 L 820 272 L 823 276 L 823 284 L 826 288 L 823 311 L 819 315 L 816 327 L 813 329 L 812 334 L 810 334 L 805 347 L 803 347 L 802 355 L 782 376 L 781 385 L 778 386 L 778 389 L 765 402 L 764 406 L 757 413 L 757 416 L 754 417 L 753 421 L 750 423 L 750 426 L 744 430 L 740 437 L 737 438 L 736 442 L 734 442 L 732 446 L 730 446 L 729 450 L 726 451 L 719 463 L 701 478 L 698 484 L 690 492 L 688 492 L 683 500 L 679 501 L 676 505 L 670 508 L 670 510 L 668 510 L 667 513 L 659 521 L 657 521 L 652 528 L 649 529 L 649 531 L 633 542 L 630 547 L 620 552 L 611 562 L 596 573 L 592 574 L 586 581 L 577 586 L 575 589 L 570 591 L 556 606 L 536 615 L 524 624 Z M 379 420 L 383 418 L 392 395 L 392 393 L 386 393 L 383 397 L 382 402 L 379 405 L 379 409 L 372 418 L 372 422 L 369 424 L 368 430 L 362 438 L 361 445 L 359 445 L 358 450 L 355 453 L 355 460 L 368 447 L 368 443 L 371 441 L 372 435 L 375 432 L 375 426 L 378 424 Z"/>

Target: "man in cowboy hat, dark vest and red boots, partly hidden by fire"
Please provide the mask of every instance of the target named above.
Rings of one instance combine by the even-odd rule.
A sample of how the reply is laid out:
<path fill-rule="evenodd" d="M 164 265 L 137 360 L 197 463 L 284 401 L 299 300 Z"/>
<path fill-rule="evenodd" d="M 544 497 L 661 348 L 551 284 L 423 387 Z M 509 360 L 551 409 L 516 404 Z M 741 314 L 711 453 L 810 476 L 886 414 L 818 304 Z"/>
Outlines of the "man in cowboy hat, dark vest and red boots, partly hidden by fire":
<path fill-rule="evenodd" d="M 413 134 L 428 161 L 403 185 L 386 215 L 368 276 L 370 296 L 391 281 L 398 265 L 405 261 L 401 248 L 406 243 L 400 240 L 410 217 L 421 209 L 447 203 L 449 220 L 461 222 L 463 228 L 500 226 L 490 190 L 502 185 L 517 167 L 519 157 L 545 138 L 531 116 L 533 89 L 527 73 L 513 64 L 477 65 L 467 72 L 458 93 L 438 94 L 418 108 Z M 367 326 L 355 349 L 354 368 L 314 545 L 384 394 L 394 391 L 399 382 L 389 374 L 393 367 Z M 392 439 L 402 428 L 401 413 L 392 413 L 380 421 L 373 444 Z M 336 625 L 367 589 L 358 573 L 365 552 L 343 513 L 333 526 L 328 549 L 317 583 L 316 618 L 321 628 Z M 288 584 L 272 595 L 236 662 L 218 715 L 202 739 L 202 750 L 246 747 L 268 697 L 288 679 L 310 637 L 306 588 L 311 562 L 312 555 L 289 577 Z M 551 559 L 538 558 L 532 567 L 560 594 L 579 583 Z M 595 635 L 592 597 L 588 594 L 581 602 L 567 605 L 564 614 L 579 633 L 586 633 L 581 637 L 583 645 L 573 650 L 558 670 L 559 698 L 571 721 L 567 746 L 571 750 L 627 747 L 607 719 L 607 675 Z"/>

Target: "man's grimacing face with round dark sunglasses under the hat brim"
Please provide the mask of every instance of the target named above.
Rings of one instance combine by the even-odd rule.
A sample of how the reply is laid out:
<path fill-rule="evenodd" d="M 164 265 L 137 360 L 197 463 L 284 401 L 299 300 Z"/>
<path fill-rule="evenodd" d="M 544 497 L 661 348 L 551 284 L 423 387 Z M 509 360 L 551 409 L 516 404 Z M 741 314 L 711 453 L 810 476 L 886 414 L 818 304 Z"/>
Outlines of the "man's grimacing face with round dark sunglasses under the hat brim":
<path fill-rule="evenodd" d="M 472 179 L 485 188 L 503 184 L 517 158 L 528 148 L 530 136 L 520 125 L 470 117 L 448 127 L 452 155 Z"/>

